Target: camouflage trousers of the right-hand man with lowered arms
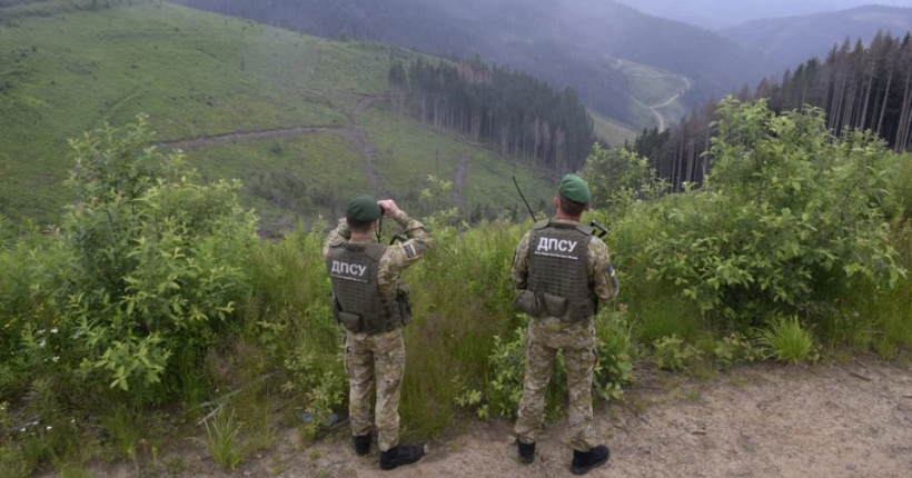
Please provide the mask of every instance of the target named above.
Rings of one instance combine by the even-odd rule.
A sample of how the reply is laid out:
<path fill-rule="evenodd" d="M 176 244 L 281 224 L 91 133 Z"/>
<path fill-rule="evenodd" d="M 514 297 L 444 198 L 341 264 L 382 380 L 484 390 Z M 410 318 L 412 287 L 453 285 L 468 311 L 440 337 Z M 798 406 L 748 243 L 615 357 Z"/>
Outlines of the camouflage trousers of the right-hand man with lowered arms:
<path fill-rule="evenodd" d="M 563 350 L 567 365 L 571 446 L 588 451 L 598 445 L 592 426 L 592 375 L 597 358 L 592 319 L 575 323 L 551 317 L 529 321 L 525 386 L 514 431 L 524 444 L 538 439 L 545 414 L 545 389 L 558 349 Z"/>

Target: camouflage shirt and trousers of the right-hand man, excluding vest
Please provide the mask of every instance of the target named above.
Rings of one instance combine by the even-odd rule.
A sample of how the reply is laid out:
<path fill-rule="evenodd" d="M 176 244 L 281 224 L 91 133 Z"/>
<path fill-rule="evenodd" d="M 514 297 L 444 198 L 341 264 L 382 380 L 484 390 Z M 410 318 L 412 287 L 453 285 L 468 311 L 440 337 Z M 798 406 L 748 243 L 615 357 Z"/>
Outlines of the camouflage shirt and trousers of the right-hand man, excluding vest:
<path fill-rule="evenodd" d="M 568 220 L 554 222 L 576 223 Z M 528 279 L 529 237 L 523 237 L 513 260 L 513 283 L 525 289 Z M 594 292 L 602 300 L 612 300 L 617 289 L 612 285 L 613 269 L 605 243 L 592 236 L 588 243 L 588 277 Z M 523 399 L 514 429 L 524 444 L 534 444 L 542 430 L 545 410 L 545 389 L 551 380 L 557 350 L 564 351 L 569 389 L 571 446 L 588 451 L 597 446 L 592 427 L 592 376 L 597 359 L 595 322 L 592 317 L 566 321 L 558 317 L 531 318 L 526 341 L 526 375 Z"/>

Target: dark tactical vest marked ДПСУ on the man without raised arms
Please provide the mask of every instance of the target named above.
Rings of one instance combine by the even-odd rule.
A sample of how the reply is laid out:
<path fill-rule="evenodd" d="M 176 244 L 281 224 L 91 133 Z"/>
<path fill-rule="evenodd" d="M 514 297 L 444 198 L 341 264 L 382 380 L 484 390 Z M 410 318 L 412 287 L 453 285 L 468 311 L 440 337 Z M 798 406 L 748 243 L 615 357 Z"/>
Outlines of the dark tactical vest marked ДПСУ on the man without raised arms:
<path fill-rule="evenodd" d="M 594 316 L 598 299 L 589 280 L 588 251 L 593 229 L 541 221 L 529 236 L 527 290 L 541 303 L 541 317 L 584 320 Z"/>

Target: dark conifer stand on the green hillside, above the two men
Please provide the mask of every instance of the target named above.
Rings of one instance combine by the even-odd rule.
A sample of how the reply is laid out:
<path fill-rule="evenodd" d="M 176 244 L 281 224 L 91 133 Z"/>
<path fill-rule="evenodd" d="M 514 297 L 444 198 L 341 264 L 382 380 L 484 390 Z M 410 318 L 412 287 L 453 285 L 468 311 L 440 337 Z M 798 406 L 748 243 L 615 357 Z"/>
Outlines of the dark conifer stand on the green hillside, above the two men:
<path fill-rule="evenodd" d="M 576 90 L 475 56 L 456 64 L 418 59 L 389 69 L 390 109 L 458 132 L 502 156 L 558 172 L 583 167 L 595 142 L 592 118 Z"/>

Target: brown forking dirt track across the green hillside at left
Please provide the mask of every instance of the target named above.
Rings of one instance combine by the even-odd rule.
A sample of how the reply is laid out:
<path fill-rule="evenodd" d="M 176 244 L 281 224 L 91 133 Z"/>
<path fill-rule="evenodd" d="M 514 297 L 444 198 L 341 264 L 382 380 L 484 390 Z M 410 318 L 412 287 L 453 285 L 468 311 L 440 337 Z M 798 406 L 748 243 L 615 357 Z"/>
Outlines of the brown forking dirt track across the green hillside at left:
<path fill-rule="evenodd" d="M 374 143 L 371 143 L 370 140 L 367 138 L 364 128 L 361 128 L 361 126 L 357 122 L 358 117 L 364 114 L 364 112 L 368 109 L 370 109 L 370 107 L 374 106 L 374 102 L 377 100 L 377 98 L 363 96 L 358 97 L 363 99 L 358 101 L 358 103 L 353 109 L 351 113 L 348 114 L 347 126 L 314 126 L 296 128 L 277 128 L 261 131 L 231 132 L 226 135 L 215 135 L 201 138 L 168 141 L 160 143 L 160 146 L 188 151 L 196 148 L 206 148 L 218 145 L 231 145 L 236 142 L 246 141 L 257 141 L 261 139 L 285 136 L 297 136 L 318 132 L 341 135 L 353 143 L 355 143 L 361 151 L 361 156 L 364 157 L 365 162 L 365 171 L 367 172 L 368 180 L 370 181 L 370 189 L 374 191 L 374 195 L 377 197 L 386 197 L 387 195 L 383 187 L 380 175 L 377 171 L 376 149 L 374 148 Z"/>

